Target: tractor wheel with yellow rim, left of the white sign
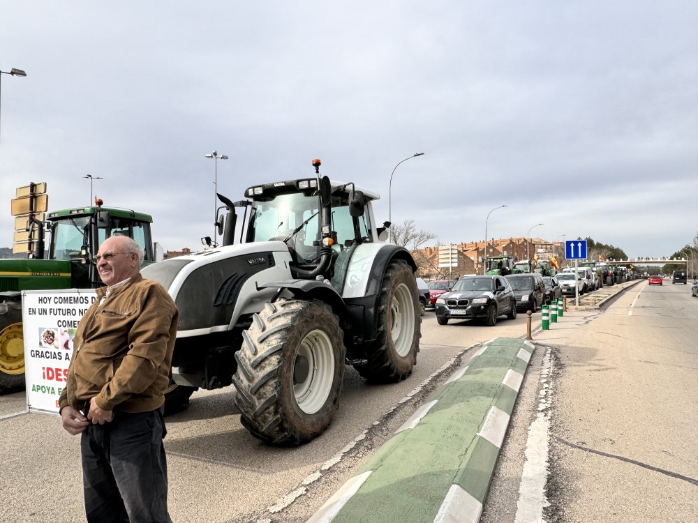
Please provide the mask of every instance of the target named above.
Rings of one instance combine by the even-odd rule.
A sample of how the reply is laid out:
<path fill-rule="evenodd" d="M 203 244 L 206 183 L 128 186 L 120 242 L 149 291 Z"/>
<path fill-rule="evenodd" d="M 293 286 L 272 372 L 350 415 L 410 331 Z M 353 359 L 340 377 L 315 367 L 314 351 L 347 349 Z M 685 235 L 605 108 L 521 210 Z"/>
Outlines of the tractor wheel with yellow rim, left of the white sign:
<path fill-rule="evenodd" d="M 24 337 L 22 305 L 0 303 L 0 393 L 24 387 Z"/>

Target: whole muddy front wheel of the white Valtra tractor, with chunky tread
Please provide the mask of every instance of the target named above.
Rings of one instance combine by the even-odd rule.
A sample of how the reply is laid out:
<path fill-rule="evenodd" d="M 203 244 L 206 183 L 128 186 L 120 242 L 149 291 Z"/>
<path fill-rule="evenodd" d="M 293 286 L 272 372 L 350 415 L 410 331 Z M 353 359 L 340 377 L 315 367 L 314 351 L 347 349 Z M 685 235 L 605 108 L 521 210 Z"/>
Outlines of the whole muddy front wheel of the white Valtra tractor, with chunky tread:
<path fill-rule="evenodd" d="M 235 404 L 254 437 L 298 445 L 319 436 L 339 407 L 346 349 L 339 318 L 318 300 L 265 303 L 235 353 Z"/>

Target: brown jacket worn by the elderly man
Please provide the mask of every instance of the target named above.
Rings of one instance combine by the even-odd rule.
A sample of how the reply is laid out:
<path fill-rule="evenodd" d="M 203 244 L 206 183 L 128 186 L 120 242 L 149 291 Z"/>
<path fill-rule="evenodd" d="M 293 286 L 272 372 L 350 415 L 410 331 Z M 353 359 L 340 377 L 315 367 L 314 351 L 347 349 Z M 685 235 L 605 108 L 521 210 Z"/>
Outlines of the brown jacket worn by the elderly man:
<path fill-rule="evenodd" d="M 97 301 L 77 326 L 59 406 L 82 410 L 96 396 L 105 410 L 158 409 L 170 384 L 177 307 L 162 285 L 140 273 L 100 305 L 106 290 L 97 289 Z"/>

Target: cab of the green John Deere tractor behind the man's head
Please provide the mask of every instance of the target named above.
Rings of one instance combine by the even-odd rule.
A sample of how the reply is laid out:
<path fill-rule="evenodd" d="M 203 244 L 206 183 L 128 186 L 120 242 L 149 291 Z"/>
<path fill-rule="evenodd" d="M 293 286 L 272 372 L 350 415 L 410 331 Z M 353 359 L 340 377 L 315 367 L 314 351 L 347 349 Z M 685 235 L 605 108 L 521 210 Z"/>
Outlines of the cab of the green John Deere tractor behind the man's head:
<path fill-rule="evenodd" d="M 49 213 L 51 241 L 48 259 L 69 261 L 71 287 L 101 286 L 96 266 L 91 263 L 105 239 L 111 236 L 133 238 L 144 250 L 144 264 L 154 262 L 150 234 L 153 218 L 127 209 L 82 207 Z"/>

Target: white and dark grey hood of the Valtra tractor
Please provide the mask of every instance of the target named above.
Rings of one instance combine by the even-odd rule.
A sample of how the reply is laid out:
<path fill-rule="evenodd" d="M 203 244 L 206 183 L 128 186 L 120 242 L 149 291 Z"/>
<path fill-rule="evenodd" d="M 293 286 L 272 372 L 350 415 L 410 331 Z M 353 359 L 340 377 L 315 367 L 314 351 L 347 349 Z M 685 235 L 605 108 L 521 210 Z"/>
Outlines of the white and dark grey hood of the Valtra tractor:
<path fill-rule="evenodd" d="M 228 245 L 159 261 L 143 278 L 168 290 L 179 310 L 177 338 L 228 331 L 241 314 L 259 312 L 275 289 L 267 282 L 291 277 L 283 241 Z"/>

